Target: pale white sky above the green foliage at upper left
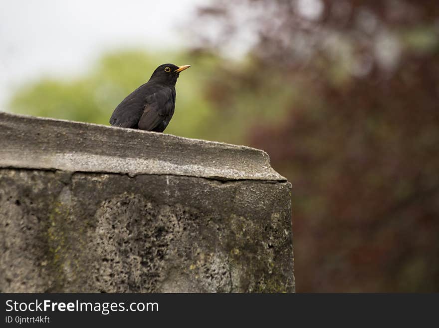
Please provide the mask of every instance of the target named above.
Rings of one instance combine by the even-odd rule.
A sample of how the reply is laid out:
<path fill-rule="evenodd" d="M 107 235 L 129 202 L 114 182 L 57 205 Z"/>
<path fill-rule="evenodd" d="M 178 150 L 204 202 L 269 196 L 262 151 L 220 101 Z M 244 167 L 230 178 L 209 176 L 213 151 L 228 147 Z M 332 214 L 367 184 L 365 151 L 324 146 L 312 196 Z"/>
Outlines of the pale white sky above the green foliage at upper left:
<path fill-rule="evenodd" d="M 0 0 L 0 110 L 24 82 L 81 73 L 106 50 L 183 47 L 179 27 L 206 2 Z"/>

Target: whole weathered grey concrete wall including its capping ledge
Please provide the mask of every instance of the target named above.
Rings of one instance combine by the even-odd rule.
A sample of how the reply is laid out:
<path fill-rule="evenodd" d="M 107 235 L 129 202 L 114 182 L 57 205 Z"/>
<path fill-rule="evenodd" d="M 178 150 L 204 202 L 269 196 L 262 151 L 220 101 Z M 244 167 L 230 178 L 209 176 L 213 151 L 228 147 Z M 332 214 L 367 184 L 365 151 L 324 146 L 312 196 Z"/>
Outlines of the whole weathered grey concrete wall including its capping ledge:
<path fill-rule="evenodd" d="M 262 151 L 0 113 L 0 292 L 293 292 Z"/>

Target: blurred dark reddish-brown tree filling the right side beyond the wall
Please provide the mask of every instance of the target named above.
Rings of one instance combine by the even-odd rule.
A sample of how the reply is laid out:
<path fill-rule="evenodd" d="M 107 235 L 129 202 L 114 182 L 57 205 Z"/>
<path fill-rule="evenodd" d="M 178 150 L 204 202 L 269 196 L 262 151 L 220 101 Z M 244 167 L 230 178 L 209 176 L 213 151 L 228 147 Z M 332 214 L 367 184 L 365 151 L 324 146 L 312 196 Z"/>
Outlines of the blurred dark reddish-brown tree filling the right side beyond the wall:
<path fill-rule="evenodd" d="M 194 55 L 251 46 L 206 93 L 293 184 L 297 291 L 438 292 L 439 2 L 216 1 L 198 22 Z"/>

